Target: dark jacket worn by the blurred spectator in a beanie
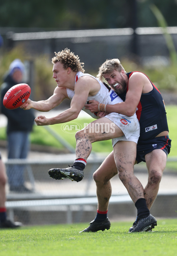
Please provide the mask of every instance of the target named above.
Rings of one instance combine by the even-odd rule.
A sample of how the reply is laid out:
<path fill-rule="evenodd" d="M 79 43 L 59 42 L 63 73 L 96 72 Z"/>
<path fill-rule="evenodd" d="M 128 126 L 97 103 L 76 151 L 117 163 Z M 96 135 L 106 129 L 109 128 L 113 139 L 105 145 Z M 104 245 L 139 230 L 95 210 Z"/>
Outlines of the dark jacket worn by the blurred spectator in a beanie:
<path fill-rule="evenodd" d="M 7 134 L 12 131 L 32 131 L 35 119 L 32 109 L 23 110 L 20 107 L 17 109 L 6 109 L 4 107 L 3 98 L 6 92 L 16 84 L 17 82 L 8 74 L 1 85 L 1 113 L 8 119 Z"/>

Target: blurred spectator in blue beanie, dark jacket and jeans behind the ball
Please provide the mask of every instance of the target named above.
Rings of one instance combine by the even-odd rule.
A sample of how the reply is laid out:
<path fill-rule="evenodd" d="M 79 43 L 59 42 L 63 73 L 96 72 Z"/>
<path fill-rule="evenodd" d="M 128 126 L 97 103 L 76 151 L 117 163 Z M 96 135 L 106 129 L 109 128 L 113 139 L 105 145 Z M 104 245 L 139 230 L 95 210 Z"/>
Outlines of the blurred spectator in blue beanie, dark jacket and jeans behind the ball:
<path fill-rule="evenodd" d="M 14 85 L 23 82 L 25 67 L 19 60 L 15 59 L 9 66 L 1 85 L 1 112 L 6 115 L 7 123 L 7 151 L 9 159 L 25 159 L 30 149 L 29 135 L 34 124 L 32 109 L 24 111 L 21 108 L 6 109 L 3 105 L 5 93 Z M 7 168 L 9 190 L 14 192 L 32 192 L 24 184 L 24 166 L 11 165 Z"/>

